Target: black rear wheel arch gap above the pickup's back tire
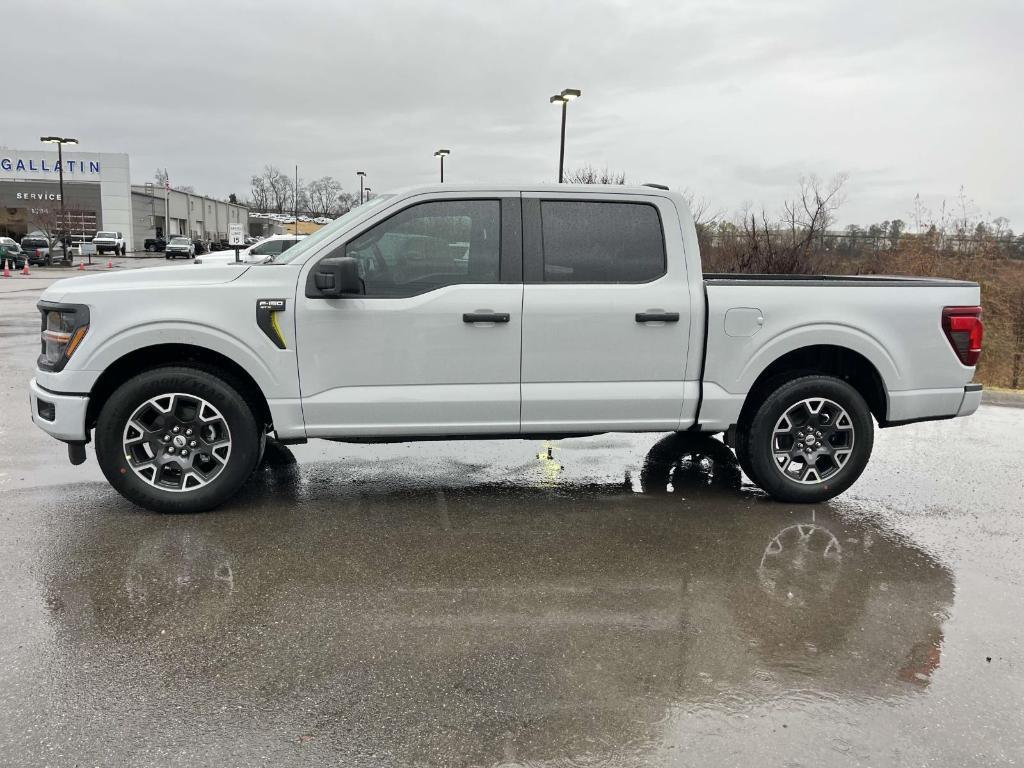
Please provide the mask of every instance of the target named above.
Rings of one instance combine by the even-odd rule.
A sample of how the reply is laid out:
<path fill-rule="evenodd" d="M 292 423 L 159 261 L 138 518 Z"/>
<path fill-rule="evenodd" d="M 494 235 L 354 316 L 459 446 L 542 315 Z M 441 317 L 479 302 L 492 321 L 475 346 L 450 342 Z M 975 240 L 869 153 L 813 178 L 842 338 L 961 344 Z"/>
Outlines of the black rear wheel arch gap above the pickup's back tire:
<path fill-rule="evenodd" d="M 848 382 L 867 403 L 880 424 L 885 424 L 889 397 L 885 380 L 876 365 L 849 347 L 836 344 L 811 344 L 792 349 L 766 366 L 754 380 L 739 414 L 739 423 L 749 423 L 765 397 L 781 381 L 818 374 Z"/>

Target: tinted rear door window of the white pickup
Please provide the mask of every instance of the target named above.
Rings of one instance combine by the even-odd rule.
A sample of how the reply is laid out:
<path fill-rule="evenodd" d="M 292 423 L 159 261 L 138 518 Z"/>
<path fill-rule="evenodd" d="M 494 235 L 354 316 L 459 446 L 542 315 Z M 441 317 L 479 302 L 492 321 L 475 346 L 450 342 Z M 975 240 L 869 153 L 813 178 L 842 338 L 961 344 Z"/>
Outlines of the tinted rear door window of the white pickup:
<path fill-rule="evenodd" d="M 647 203 L 541 203 L 546 283 L 647 283 L 666 272 L 657 209 Z"/>

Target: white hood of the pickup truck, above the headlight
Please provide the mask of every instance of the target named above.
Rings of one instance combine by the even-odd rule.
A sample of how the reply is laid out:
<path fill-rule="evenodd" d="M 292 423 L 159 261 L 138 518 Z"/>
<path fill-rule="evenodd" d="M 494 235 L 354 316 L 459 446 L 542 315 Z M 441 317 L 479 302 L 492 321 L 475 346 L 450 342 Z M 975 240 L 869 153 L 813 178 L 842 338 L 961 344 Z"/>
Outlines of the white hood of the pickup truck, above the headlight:
<path fill-rule="evenodd" d="M 43 291 L 43 301 L 75 301 L 78 297 L 109 291 L 145 291 L 230 283 L 248 269 L 247 264 L 213 265 L 197 269 L 193 264 L 145 267 L 122 272 L 101 272 L 68 278 Z"/>

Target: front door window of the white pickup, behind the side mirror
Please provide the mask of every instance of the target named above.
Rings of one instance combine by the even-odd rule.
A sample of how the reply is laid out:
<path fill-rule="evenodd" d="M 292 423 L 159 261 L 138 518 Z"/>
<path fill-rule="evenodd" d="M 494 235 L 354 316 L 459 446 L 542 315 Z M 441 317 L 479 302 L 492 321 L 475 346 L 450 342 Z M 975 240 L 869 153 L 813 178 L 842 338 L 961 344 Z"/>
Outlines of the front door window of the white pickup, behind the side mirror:
<path fill-rule="evenodd" d="M 501 203 L 452 200 L 407 208 L 345 247 L 367 296 L 416 296 L 443 286 L 498 283 Z"/>

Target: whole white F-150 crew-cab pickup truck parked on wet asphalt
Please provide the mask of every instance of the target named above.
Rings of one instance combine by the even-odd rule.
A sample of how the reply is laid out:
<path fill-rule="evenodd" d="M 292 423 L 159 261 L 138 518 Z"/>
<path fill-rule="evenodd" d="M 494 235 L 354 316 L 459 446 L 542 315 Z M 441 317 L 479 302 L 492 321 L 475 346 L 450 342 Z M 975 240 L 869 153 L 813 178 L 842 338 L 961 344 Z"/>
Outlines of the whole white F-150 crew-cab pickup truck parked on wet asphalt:
<path fill-rule="evenodd" d="M 152 510 L 229 499 L 268 435 L 725 433 L 772 497 L 845 490 L 893 426 L 975 412 L 976 284 L 705 274 L 653 186 L 381 195 L 260 264 L 60 281 L 35 423 Z"/>

